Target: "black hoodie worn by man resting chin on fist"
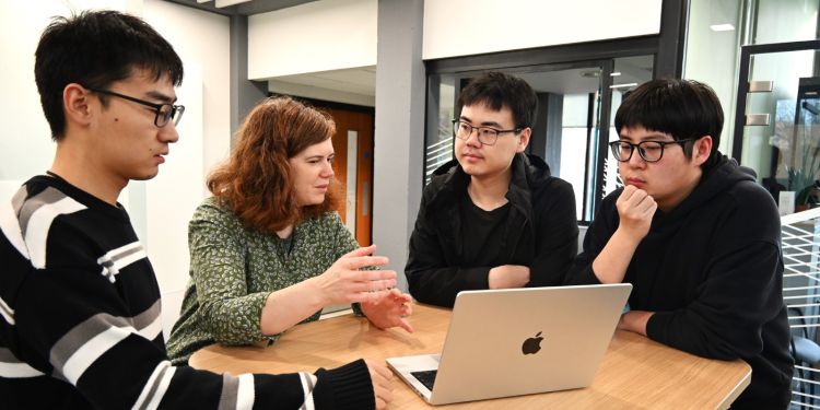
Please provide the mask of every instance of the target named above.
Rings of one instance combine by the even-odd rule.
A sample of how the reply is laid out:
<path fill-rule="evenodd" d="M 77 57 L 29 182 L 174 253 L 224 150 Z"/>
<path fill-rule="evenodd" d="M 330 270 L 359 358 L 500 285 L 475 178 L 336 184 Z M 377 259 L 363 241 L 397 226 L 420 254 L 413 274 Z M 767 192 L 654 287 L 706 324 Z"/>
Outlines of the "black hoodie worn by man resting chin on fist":
<path fill-rule="evenodd" d="M 591 265 L 618 229 L 621 191 L 601 202 L 567 284 L 599 283 Z M 788 403 L 794 363 L 780 244 L 772 196 L 721 155 L 689 197 L 668 213 L 655 213 L 623 280 L 634 286 L 630 308 L 655 312 L 646 325 L 651 339 L 749 363 L 751 385 L 733 408 Z"/>

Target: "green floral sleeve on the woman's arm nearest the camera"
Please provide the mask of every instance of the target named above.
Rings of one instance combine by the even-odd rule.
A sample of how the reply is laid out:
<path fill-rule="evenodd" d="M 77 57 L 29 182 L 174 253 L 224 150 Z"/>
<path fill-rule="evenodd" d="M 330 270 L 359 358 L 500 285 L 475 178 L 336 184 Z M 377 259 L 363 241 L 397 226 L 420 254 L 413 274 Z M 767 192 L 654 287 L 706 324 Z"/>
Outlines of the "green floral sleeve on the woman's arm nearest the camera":
<path fill-rule="evenodd" d="M 263 337 L 259 318 L 270 292 L 248 293 L 245 234 L 232 213 L 210 203 L 197 209 L 188 226 L 200 323 L 226 345 Z"/>

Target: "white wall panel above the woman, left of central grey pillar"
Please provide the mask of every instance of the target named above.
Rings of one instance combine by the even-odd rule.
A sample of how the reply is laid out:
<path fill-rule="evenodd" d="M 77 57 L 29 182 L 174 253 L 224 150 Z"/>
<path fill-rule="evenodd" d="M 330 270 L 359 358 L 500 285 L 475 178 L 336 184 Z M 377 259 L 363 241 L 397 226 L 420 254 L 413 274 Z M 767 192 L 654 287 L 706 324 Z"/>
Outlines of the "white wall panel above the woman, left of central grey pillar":
<path fill-rule="evenodd" d="M 248 17 L 248 79 L 376 65 L 377 0 L 323 0 Z"/>

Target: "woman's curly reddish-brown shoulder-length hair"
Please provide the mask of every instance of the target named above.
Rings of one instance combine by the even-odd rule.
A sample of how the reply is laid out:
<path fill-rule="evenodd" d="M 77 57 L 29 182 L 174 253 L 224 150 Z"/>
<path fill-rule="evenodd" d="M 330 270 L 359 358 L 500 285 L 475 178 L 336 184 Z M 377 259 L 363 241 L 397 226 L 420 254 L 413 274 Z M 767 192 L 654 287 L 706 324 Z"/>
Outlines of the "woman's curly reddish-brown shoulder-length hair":
<path fill-rule="evenodd" d="M 208 177 L 208 189 L 244 225 L 265 233 L 335 210 L 335 189 L 323 203 L 296 203 L 288 162 L 335 132 L 328 114 L 286 96 L 267 98 L 245 118 L 231 156 Z"/>

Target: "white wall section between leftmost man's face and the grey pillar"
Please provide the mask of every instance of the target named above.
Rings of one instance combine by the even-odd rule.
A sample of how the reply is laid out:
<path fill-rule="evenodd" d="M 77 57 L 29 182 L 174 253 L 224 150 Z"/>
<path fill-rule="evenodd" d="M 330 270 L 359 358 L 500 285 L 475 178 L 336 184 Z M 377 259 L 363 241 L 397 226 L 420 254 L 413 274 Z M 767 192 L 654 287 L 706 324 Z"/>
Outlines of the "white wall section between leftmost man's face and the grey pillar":
<path fill-rule="evenodd" d="M 188 221 L 207 195 L 207 173 L 230 150 L 230 20 L 160 0 L 144 0 L 143 17 L 185 65 L 185 80 L 177 90 L 179 104 L 186 106 L 179 141 L 172 145 L 160 175 L 144 183 L 142 238 L 163 294 L 167 336 L 189 278 Z"/>

